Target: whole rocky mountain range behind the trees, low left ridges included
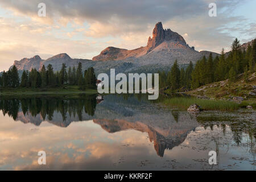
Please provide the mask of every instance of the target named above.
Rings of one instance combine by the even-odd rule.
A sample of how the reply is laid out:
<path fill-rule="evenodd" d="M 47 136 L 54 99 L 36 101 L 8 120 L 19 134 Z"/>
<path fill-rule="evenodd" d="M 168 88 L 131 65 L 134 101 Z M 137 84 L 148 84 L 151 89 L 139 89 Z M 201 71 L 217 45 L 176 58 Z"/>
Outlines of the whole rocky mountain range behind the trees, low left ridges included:
<path fill-rule="evenodd" d="M 242 47 L 247 48 L 251 44 L 245 43 Z M 100 55 L 88 59 L 72 59 L 67 53 L 50 57 L 42 60 L 40 56 L 34 56 L 30 59 L 24 58 L 20 61 L 14 61 L 18 70 L 31 70 L 36 68 L 40 70 L 43 65 L 47 67 L 52 64 L 54 71 L 59 71 L 63 63 L 67 67 L 77 67 L 82 63 L 82 69 L 93 67 L 98 73 L 109 73 L 111 68 L 115 68 L 116 73 L 154 73 L 159 70 L 167 71 L 175 60 L 180 65 L 187 65 L 189 61 L 195 63 L 203 56 L 213 57 L 217 53 L 210 51 L 196 51 L 194 47 L 189 47 L 184 38 L 171 29 L 163 29 L 162 23 L 158 22 L 152 32 L 152 38 L 148 38 L 147 46 L 133 50 L 108 47 L 101 51 Z"/>

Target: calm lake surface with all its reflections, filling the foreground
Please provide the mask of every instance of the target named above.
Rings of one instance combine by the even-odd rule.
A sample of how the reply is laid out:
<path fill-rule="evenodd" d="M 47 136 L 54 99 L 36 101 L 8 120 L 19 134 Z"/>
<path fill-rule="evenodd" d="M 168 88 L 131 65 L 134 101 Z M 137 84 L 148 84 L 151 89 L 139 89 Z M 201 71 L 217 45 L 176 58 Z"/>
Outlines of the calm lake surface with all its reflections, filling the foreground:
<path fill-rule="evenodd" d="M 141 95 L 0 98 L 0 110 L 0 170 L 255 171 L 255 110 L 189 114 Z"/>

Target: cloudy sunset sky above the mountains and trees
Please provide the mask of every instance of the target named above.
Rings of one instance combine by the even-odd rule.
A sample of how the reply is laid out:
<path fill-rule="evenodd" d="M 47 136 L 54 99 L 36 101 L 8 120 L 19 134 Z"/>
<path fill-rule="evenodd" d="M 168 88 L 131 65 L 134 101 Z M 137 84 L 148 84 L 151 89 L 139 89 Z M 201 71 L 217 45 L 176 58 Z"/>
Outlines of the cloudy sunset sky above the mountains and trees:
<path fill-rule="evenodd" d="M 38 16 L 39 3 L 46 17 Z M 217 16 L 209 16 L 210 3 Z M 92 59 L 109 46 L 146 46 L 157 22 L 197 51 L 229 51 L 234 38 L 256 37 L 255 7 L 255 0 L 1 0 L 0 71 L 23 57 Z"/>

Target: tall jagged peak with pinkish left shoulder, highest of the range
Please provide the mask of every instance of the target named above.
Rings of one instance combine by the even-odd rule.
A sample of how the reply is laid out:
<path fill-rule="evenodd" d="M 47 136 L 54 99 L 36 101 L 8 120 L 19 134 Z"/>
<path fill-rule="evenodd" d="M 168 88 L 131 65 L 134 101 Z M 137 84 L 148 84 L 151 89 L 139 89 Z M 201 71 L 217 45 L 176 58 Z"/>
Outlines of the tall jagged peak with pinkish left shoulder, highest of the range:
<path fill-rule="evenodd" d="M 216 55 L 213 53 L 213 56 Z M 92 60 L 134 60 L 145 65 L 152 62 L 172 64 L 177 59 L 181 64 L 188 64 L 189 61 L 196 61 L 201 57 L 203 54 L 195 51 L 194 47 L 189 47 L 181 35 L 170 28 L 164 30 L 162 22 L 158 22 L 153 29 L 152 38 L 148 38 L 147 46 L 133 50 L 108 47 Z"/>

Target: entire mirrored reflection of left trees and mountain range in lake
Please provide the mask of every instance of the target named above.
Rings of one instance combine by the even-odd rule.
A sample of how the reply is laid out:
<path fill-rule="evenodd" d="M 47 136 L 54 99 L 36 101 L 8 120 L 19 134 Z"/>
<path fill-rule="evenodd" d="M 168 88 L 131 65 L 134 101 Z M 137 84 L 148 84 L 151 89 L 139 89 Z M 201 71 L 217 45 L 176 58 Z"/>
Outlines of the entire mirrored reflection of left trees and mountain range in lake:
<path fill-rule="evenodd" d="M 34 123 L 36 126 L 47 121 L 67 127 L 71 122 L 93 119 L 94 123 L 109 133 L 129 129 L 146 132 L 150 141 L 154 142 L 157 154 L 163 156 L 164 150 L 171 150 L 182 143 L 187 134 L 199 124 L 187 112 L 174 113 L 150 103 L 147 96 L 145 98 L 141 95 L 108 95 L 99 104 L 96 96 L 1 100 L 0 109 L 15 121 Z M 9 110 L 7 106 L 15 109 Z"/>

